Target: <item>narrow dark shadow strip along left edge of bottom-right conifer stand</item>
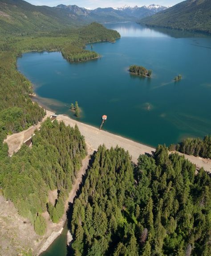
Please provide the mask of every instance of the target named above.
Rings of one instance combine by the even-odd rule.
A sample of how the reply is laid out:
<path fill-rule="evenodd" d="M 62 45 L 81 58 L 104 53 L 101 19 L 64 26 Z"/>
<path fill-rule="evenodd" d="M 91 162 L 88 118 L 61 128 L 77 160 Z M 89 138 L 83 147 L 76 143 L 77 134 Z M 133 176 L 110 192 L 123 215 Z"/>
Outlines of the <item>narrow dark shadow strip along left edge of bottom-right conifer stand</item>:
<path fill-rule="evenodd" d="M 79 198 L 80 194 L 81 194 L 81 191 L 82 191 L 82 188 L 85 184 L 85 180 L 86 180 L 86 177 L 87 177 L 87 173 L 89 172 L 89 170 L 91 169 L 92 167 L 92 164 L 93 164 L 93 161 L 94 161 L 94 157 L 95 157 L 95 154 L 97 153 L 97 151 L 94 151 L 94 153 L 91 155 L 90 157 L 90 160 L 89 160 L 89 165 L 85 171 L 85 175 L 83 175 L 82 177 L 82 182 L 79 186 L 79 189 L 77 190 L 76 192 L 76 196 L 73 200 L 73 203 L 69 202 L 69 207 L 68 207 L 68 210 L 66 212 L 66 215 L 67 215 L 67 228 L 68 230 L 71 230 L 71 221 L 72 221 L 72 217 L 73 217 L 73 205 L 74 205 L 74 202 L 77 198 Z M 73 235 L 73 234 L 71 234 Z M 70 244 L 68 245 L 67 244 L 67 256 L 72 256 L 74 255 L 74 251 L 73 251 L 73 248 L 71 247 L 71 244 L 73 243 L 75 237 L 73 236 L 73 240 L 70 242 Z"/>

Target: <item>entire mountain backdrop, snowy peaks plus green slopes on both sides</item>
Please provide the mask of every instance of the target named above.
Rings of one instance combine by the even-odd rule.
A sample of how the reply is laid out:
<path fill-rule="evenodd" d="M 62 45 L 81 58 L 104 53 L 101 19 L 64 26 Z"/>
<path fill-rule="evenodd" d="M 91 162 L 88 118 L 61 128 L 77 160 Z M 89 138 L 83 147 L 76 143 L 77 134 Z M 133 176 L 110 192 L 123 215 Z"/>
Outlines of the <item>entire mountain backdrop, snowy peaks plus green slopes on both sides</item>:
<path fill-rule="evenodd" d="M 56 31 L 96 22 L 138 21 L 139 23 L 211 33 L 211 0 L 186 0 L 170 8 L 150 4 L 142 7 L 97 8 L 77 5 L 35 6 L 24 0 L 0 0 L 0 32 Z"/>

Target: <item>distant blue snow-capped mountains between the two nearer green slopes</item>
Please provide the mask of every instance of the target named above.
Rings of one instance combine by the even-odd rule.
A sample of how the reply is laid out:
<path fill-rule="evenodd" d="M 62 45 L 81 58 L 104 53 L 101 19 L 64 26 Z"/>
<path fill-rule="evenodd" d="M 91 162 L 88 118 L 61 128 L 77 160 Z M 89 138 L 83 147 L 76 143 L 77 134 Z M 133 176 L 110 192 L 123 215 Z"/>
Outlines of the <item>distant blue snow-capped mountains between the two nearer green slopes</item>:
<path fill-rule="evenodd" d="M 77 5 L 59 4 L 55 8 L 65 9 L 69 11 L 70 15 L 75 15 L 76 18 L 79 17 L 84 21 L 97 22 L 136 21 L 167 9 L 167 7 L 156 4 L 142 7 L 125 5 L 120 8 L 97 8 L 94 10 L 80 8 Z"/>

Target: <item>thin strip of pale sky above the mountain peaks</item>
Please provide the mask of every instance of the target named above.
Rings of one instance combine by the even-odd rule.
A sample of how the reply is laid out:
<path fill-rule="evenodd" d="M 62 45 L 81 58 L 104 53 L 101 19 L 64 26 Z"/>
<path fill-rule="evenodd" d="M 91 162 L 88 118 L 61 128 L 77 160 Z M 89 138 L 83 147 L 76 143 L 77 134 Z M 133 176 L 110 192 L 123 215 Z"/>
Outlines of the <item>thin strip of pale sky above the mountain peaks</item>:
<path fill-rule="evenodd" d="M 98 7 L 122 7 L 124 5 L 129 6 L 143 6 L 150 4 L 160 4 L 163 6 L 171 6 L 182 2 L 182 0 L 26 0 L 30 4 L 35 5 L 48 5 L 57 6 L 58 4 L 73 5 L 76 4 L 79 7 L 95 9 Z"/>

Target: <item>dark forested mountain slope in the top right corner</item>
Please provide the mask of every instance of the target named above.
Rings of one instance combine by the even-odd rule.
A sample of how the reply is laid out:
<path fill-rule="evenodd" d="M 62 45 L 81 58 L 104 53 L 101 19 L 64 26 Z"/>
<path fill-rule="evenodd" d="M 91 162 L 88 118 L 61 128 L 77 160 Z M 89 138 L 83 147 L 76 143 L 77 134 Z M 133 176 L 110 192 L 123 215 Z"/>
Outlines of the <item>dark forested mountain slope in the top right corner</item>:
<path fill-rule="evenodd" d="M 139 23 L 211 33 L 211 0 L 187 0 Z"/>

